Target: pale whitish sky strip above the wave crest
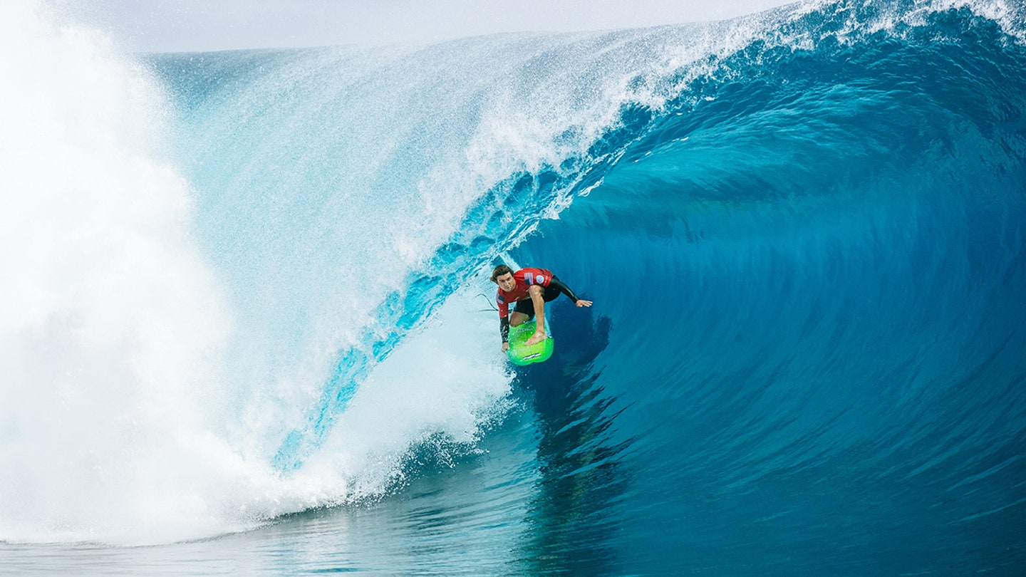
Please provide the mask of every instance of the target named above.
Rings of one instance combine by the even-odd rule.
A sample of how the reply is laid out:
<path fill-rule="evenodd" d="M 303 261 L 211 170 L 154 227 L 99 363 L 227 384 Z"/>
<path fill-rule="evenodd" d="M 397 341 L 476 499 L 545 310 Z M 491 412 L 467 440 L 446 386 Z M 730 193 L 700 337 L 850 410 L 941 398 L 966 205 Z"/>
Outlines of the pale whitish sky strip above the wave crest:
<path fill-rule="evenodd" d="M 48 0 L 139 51 L 395 43 L 721 20 L 794 0 Z"/>

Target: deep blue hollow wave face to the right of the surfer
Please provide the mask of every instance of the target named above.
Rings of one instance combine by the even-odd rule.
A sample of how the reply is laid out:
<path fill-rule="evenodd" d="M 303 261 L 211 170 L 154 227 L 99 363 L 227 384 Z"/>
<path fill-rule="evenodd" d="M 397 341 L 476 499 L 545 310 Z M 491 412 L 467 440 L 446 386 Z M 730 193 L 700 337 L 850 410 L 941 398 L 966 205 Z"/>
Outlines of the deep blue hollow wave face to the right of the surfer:
<path fill-rule="evenodd" d="M 858 37 L 724 59 L 519 248 L 601 304 L 522 379 L 585 405 L 550 482 L 613 573 L 1023 571 L 1022 45 L 966 10 Z"/>

